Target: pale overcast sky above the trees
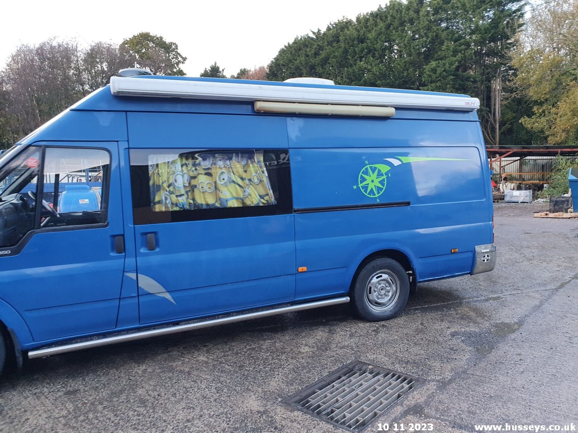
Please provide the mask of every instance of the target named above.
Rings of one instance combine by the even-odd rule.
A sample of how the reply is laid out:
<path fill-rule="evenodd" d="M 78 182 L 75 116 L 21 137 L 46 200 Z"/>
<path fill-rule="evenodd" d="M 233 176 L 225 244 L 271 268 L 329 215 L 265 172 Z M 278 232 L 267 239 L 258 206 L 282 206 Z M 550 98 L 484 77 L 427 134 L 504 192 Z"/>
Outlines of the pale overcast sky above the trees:
<path fill-rule="evenodd" d="M 18 44 L 51 37 L 120 43 L 151 32 L 179 44 L 190 76 L 214 61 L 227 76 L 266 65 L 295 36 L 377 9 L 385 0 L 6 1 L 0 6 L 0 65 Z"/>

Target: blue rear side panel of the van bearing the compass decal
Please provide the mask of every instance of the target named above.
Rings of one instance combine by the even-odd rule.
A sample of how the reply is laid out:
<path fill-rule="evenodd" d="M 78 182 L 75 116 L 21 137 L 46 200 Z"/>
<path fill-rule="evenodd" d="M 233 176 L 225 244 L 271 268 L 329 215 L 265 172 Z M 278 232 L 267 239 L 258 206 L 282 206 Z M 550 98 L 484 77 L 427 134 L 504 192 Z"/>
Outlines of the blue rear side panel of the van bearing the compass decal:
<path fill-rule="evenodd" d="M 344 293 L 381 249 L 403 252 L 418 281 L 469 274 L 492 241 L 476 122 L 287 120 L 296 298 Z M 451 249 L 458 252 L 451 253 Z"/>

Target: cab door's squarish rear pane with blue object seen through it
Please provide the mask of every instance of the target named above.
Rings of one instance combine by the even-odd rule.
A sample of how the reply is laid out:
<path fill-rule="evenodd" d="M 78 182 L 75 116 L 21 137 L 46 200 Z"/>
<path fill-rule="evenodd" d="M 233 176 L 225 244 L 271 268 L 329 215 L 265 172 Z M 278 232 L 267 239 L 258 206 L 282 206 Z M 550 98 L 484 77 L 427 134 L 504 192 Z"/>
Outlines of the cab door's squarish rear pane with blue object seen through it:
<path fill-rule="evenodd" d="M 110 155 L 105 150 L 47 148 L 42 196 L 56 212 L 45 215 L 43 210 L 40 226 L 106 223 L 109 168 Z"/>

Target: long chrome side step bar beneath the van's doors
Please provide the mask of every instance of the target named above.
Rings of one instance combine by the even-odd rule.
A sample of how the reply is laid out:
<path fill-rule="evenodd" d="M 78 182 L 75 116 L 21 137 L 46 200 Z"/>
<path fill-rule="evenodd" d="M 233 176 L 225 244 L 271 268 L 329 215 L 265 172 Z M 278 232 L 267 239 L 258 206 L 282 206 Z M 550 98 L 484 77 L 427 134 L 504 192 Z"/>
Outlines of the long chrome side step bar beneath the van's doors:
<path fill-rule="evenodd" d="M 192 331 L 195 329 L 209 328 L 227 323 L 243 322 L 244 320 L 258 319 L 277 314 L 290 313 L 294 311 L 303 311 L 306 309 L 328 307 L 329 305 L 345 304 L 349 302 L 349 296 L 340 298 L 332 298 L 323 301 L 315 301 L 306 304 L 288 305 L 287 307 L 279 307 L 272 309 L 265 309 L 250 313 L 239 314 L 236 316 L 226 316 L 216 319 L 203 320 L 201 322 L 186 323 L 175 326 L 166 326 L 158 329 L 151 329 L 148 331 L 136 331 L 131 334 L 115 335 L 114 337 L 103 337 L 89 341 L 82 341 L 78 343 L 64 344 L 60 346 L 50 346 L 43 349 L 30 350 L 28 358 L 41 358 L 43 356 L 57 355 L 60 353 L 74 352 L 75 350 L 83 350 L 90 348 L 97 348 L 109 344 L 123 343 L 127 341 L 134 341 L 142 338 L 158 337 L 160 335 L 176 334 L 184 331 Z"/>

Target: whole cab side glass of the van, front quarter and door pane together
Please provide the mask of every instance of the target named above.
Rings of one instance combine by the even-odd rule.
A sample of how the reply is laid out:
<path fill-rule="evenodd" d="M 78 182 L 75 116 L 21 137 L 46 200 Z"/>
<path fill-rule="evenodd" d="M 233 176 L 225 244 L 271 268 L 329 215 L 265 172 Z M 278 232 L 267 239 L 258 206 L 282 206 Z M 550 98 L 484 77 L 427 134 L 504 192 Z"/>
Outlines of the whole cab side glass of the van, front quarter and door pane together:
<path fill-rule="evenodd" d="M 105 224 L 110 154 L 29 147 L 0 169 L 0 248 L 31 230 Z"/>

